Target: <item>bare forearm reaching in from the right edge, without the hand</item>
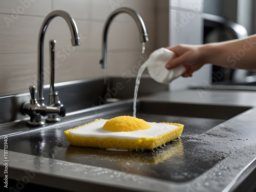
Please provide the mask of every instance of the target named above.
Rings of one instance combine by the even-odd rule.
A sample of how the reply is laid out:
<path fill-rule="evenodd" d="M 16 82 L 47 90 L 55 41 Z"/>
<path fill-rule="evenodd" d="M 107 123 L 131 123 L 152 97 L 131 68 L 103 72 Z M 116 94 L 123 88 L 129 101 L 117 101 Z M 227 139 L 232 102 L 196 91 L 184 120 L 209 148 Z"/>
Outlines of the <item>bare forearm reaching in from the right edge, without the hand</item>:
<path fill-rule="evenodd" d="M 256 35 L 205 44 L 199 49 L 205 63 L 233 69 L 256 70 Z"/>

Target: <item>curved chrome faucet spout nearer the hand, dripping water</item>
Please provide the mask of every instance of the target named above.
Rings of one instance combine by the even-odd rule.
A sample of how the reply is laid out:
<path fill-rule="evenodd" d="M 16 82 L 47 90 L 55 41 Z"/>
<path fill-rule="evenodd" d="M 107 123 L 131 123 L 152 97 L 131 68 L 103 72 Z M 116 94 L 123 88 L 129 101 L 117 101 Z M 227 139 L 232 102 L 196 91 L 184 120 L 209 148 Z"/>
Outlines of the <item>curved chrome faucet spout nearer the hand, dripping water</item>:
<path fill-rule="evenodd" d="M 100 64 L 102 65 L 103 69 L 106 68 L 106 50 L 107 50 L 107 42 L 106 41 L 107 41 L 107 37 L 108 37 L 108 29 L 109 29 L 109 26 L 110 26 L 112 20 L 114 19 L 114 17 L 116 15 L 118 15 L 119 13 L 127 13 L 127 14 L 131 15 L 138 26 L 138 29 L 140 32 L 140 36 L 139 36 L 140 42 L 148 41 L 144 22 L 143 22 L 141 16 L 136 11 L 134 11 L 131 8 L 127 8 L 127 7 L 121 7 L 121 8 L 114 10 L 108 16 L 108 18 L 106 19 L 105 25 L 104 25 L 103 42 L 102 42 L 102 57 L 100 59 Z"/>

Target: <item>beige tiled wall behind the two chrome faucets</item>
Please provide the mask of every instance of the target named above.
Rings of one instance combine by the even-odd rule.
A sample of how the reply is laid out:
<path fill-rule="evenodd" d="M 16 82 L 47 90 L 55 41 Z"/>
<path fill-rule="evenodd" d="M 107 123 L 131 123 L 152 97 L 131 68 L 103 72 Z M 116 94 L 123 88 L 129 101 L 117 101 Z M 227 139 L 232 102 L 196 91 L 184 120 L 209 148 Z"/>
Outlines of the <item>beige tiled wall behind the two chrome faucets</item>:
<path fill-rule="evenodd" d="M 39 29 L 45 16 L 58 9 L 74 18 L 81 45 L 71 46 L 70 30 L 63 18 L 50 22 L 45 37 L 45 84 L 49 83 L 51 39 L 57 41 L 55 82 L 103 77 L 105 72 L 99 65 L 103 25 L 119 7 L 130 7 L 141 15 L 149 38 L 142 54 L 133 18 L 128 14 L 115 17 L 108 35 L 107 75 L 120 77 L 141 65 L 153 50 L 168 45 L 168 0 L 1 0 L 0 95 L 27 92 L 31 84 L 36 86 Z M 137 71 L 133 73 L 136 76 Z"/>

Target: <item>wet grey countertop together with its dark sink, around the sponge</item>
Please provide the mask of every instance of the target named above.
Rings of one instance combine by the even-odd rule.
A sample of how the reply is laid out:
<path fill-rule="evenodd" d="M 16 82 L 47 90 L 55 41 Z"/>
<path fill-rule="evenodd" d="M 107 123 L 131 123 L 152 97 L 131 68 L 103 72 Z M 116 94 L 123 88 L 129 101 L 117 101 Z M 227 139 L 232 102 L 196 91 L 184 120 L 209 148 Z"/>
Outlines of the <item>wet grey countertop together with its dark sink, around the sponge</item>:
<path fill-rule="evenodd" d="M 56 125 L 8 134 L 9 177 L 14 180 L 29 177 L 34 184 L 72 191 L 83 191 L 84 187 L 89 190 L 103 187 L 105 191 L 234 191 L 256 167 L 256 92 L 163 91 L 141 97 L 139 102 L 137 117 L 184 124 L 181 137 L 154 151 L 143 152 L 70 145 L 63 134 L 67 129 L 95 118 L 132 116 L 132 100 L 122 101 L 120 106 L 110 103 L 114 106 L 112 110 L 107 105 L 98 106 L 94 111 L 74 115 L 75 121 L 70 115 Z M 143 102 L 164 103 L 163 112 L 147 111 Z M 209 108 L 199 112 L 201 105 Z M 152 106 L 148 108 L 154 109 Z M 224 115 L 227 107 L 232 107 L 232 111 L 234 107 L 241 108 L 243 112 L 229 118 Z M 175 111 L 182 113 L 178 108 L 191 115 L 176 116 Z M 212 116 L 193 115 L 208 113 L 207 109 L 214 109 Z M 0 144 L 4 154 L 4 136 Z M 0 159 L 4 162 L 4 156 Z"/>

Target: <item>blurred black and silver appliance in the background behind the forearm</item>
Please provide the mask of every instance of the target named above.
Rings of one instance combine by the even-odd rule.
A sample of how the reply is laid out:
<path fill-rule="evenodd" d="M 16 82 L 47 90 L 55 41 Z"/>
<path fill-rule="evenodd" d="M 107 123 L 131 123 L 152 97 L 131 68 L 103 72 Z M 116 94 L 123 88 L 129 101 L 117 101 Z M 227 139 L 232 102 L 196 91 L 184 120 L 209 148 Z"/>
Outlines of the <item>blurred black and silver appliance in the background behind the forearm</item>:
<path fill-rule="evenodd" d="M 203 42 L 220 42 L 255 34 L 255 7 L 255 0 L 205 0 Z M 212 66 L 211 76 L 212 84 L 256 84 L 256 71 Z"/>

